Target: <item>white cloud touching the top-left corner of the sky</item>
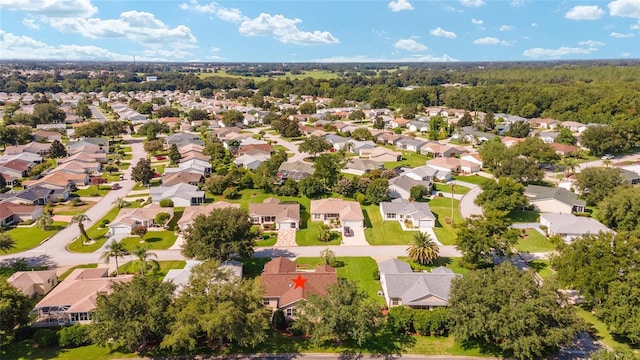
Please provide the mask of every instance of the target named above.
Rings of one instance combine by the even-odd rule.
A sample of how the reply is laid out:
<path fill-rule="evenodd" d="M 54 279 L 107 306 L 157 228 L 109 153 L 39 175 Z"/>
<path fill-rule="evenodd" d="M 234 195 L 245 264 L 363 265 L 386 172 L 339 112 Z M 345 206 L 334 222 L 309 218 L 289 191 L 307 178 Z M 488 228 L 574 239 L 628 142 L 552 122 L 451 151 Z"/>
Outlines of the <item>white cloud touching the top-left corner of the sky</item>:
<path fill-rule="evenodd" d="M 0 7 L 46 17 L 90 17 L 98 12 L 91 0 L 0 0 Z"/>

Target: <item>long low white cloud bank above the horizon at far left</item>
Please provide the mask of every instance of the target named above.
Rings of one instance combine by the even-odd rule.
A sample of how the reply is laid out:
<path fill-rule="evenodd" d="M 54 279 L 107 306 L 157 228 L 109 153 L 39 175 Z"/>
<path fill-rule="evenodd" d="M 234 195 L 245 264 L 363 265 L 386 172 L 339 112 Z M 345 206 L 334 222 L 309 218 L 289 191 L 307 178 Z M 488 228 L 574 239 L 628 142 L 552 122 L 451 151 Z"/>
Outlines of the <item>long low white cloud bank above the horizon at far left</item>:
<path fill-rule="evenodd" d="M 97 46 L 51 46 L 28 36 L 20 36 L 0 30 L 0 58 L 42 60 L 109 60 L 127 61 L 132 57 L 111 52 Z M 142 59 L 141 59 L 142 60 Z M 152 59 L 144 59 L 152 60 Z M 158 59 L 156 59 L 158 60 Z"/>

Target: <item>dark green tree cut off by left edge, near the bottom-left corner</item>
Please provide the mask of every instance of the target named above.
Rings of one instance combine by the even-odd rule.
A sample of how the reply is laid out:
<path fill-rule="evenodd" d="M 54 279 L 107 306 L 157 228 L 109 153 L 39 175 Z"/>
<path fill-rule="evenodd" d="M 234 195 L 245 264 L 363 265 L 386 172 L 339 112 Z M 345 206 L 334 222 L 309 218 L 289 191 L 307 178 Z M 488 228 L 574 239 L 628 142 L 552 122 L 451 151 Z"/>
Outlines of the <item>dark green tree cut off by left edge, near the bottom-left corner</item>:
<path fill-rule="evenodd" d="M 33 304 L 28 296 L 6 282 L 5 279 L 0 281 L 0 319 L 2 319 L 0 321 L 0 335 L 3 338 L 6 338 L 7 333 L 16 326 L 28 324 L 29 312 L 32 309 Z"/>

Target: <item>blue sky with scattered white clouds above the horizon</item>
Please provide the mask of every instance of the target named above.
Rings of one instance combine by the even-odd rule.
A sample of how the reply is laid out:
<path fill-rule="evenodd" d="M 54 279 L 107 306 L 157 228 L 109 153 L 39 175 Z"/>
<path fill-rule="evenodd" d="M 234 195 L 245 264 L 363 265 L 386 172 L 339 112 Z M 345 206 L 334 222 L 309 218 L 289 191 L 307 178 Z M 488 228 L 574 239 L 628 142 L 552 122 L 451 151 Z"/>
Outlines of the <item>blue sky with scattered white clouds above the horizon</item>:
<path fill-rule="evenodd" d="M 0 0 L 0 59 L 640 58 L 640 0 Z"/>

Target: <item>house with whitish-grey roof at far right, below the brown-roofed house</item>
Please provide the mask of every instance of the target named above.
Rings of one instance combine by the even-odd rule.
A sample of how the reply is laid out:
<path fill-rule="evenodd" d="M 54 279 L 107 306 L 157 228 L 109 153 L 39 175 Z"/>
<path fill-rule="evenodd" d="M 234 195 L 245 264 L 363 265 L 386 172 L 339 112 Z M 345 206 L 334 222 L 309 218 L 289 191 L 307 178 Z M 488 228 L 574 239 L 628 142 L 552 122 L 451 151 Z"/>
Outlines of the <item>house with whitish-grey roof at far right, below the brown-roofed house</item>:
<path fill-rule="evenodd" d="M 560 235 L 567 243 L 585 234 L 613 232 L 596 219 L 572 214 L 541 213 L 540 224 L 547 227 L 549 236 Z"/>

